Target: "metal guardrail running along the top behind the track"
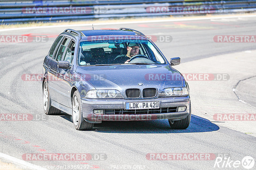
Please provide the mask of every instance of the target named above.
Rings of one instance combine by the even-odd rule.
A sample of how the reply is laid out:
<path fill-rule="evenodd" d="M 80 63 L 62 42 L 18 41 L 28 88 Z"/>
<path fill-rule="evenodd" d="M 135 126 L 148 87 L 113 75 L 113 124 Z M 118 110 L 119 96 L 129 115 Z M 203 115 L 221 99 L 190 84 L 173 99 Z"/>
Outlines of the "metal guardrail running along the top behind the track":
<path fill-rule="evenodd" d="M 256 11 L 256 0 L 0 0 L 0 22 Z"/>

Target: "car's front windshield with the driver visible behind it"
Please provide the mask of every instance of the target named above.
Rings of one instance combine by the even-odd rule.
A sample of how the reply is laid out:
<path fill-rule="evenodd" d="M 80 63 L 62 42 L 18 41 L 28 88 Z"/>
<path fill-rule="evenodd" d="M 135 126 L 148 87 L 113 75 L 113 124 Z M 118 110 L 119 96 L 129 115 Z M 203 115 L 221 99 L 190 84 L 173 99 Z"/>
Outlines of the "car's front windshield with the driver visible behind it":
<path fill-rule="evenodd" d="M 81 41 L 78 66 L 108 64 L 166 64 L 164 57 L 148 40 L 140 42 Z"/>

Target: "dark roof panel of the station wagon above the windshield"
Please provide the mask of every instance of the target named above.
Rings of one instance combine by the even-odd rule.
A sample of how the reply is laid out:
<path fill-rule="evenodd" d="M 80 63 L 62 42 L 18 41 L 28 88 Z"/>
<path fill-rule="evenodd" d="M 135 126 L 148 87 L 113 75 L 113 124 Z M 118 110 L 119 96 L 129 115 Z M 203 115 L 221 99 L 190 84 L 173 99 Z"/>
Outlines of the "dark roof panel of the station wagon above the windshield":
<path fill-rule="evenodd" d="M 82 38 L 81 41 L 88 40 L 88 37 L 92 36 L 115 36 L 115 35 L 122 35 L 122 36 L 136 36 L 139 39 L 146 39 L 146 37 L 133 32 L 131 30 L 80 30 Z"/>

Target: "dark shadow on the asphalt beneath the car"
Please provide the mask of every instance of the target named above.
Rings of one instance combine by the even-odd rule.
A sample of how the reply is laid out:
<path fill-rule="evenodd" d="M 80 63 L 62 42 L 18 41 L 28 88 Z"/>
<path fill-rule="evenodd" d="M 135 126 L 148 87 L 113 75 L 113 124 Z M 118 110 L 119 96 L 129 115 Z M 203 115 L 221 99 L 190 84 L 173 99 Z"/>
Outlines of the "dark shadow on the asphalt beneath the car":
<path fill-rule="evenodd" d="M 72 116 L 61 116 L 72 121 Z M 190 125 L 187 129 L 171 129 L 167 119 L 145 120 L 145 121 L 102 121 L 101 124 L 94 124 L 91 131 L 101 133 L 191 133 L 210 132 L 219 130 L 219 126 L 209 120 L 191 115 Z"/>

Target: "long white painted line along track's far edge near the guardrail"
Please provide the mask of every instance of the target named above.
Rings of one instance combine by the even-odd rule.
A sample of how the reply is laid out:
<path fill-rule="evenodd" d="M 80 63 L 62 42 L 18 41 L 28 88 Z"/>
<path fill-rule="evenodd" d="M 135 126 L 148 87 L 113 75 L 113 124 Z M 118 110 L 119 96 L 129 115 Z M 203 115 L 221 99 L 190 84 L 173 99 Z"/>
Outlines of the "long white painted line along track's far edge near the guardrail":
<path fill-rule="evenodd" d="M 154 22 L 172 22 L 172 21 L 194 21 L 194 20 L 207 20 L 207 19 L 225 19 L 225 18 L 246 18 L 256 17 L 256 15 L 241 15 L 241 16 L 227 16 L 227 17 L 204 17 L 204 18 L 185 18 L 185 19 L 163 19 L 163 20 L 148 20 L 148 21 L 126 21 L 126 22 L 112 22 L 112 23 L 95 23 L 93 25 L 120 25 L 120 24 L 139 24 L 139 23 L 154 23 Z M 28 30 L 39 28 L 58 28 L 58 27 L 75 27 L 75 26 L 92 26 L 92 24 L 73 24 L 73 25 L 48 25 L 48 26 L 34 26 L 34 27 L 22 27 L 22 28 L 9 28 L 2 29 L 3 31 L 14 30 Z"/>

